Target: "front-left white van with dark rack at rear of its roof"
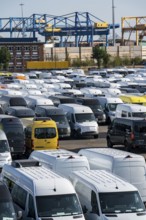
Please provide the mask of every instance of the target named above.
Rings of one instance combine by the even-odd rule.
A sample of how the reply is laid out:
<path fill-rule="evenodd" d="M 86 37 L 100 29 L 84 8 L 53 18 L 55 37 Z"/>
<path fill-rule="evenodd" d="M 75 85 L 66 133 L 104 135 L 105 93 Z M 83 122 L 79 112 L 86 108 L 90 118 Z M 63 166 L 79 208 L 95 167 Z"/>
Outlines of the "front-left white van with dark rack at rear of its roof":
<path fill-rule="evenodd" d="M 81 205 L 71 182 L 35 160 L 17 160 L 4 165 L 2 180 L 10 189 L 23 220 L 82 219 Z"/>

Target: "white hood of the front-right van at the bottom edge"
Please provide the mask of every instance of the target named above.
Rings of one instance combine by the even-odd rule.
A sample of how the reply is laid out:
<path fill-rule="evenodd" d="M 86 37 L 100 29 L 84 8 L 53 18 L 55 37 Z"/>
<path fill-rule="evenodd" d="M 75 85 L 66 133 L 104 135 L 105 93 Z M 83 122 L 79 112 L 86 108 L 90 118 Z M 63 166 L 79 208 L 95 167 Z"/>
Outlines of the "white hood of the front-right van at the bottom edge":
<path fill-rule="evenodd" d="M 104 220 L 125 220 L 125 219 L 132 219 L 132 220 L 145 220 L 146 219 L 146 212 L 138 212 L 138 213 L 121 213 L 121 214 L 106 214 L 103 215 Z"/>

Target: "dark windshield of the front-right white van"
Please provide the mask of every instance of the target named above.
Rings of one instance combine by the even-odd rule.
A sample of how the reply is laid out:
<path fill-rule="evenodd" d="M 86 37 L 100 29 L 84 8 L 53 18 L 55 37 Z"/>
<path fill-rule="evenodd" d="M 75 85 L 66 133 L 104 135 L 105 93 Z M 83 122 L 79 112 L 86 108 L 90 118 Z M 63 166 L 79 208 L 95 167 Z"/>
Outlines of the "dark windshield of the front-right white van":
<path fill-rule="evenodd" d="M 131 213 L 145 211 L 138 192 L 99 193 L 102 213 Z"/>

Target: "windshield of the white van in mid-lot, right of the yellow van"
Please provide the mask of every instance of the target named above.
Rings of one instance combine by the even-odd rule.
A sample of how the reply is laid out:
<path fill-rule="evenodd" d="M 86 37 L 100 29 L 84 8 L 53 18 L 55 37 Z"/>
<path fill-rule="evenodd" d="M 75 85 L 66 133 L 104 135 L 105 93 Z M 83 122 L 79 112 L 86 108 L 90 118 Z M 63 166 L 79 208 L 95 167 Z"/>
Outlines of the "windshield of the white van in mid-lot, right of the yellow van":
<path fill-rule="evenodd" d="M 95 116 L 93 113 L 75 114 L 75 118 L 76 118 L 76 122 L 78 122 L 78 123 L 95 121 Z"/>

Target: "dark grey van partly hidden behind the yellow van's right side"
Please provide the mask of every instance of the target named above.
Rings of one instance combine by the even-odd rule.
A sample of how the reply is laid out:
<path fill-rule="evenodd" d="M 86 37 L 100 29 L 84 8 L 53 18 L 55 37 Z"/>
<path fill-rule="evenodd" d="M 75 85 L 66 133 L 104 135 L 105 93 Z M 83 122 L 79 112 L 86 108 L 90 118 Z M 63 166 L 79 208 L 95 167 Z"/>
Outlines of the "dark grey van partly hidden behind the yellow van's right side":
<path fill-rule="evenodd" d="M 50 117 L 56 122 L 59 138 L 70 137 L 71 129 L 63 109 L 55 106 L 36 106 L 37 117 Z"/>

